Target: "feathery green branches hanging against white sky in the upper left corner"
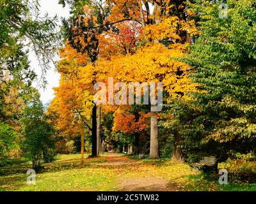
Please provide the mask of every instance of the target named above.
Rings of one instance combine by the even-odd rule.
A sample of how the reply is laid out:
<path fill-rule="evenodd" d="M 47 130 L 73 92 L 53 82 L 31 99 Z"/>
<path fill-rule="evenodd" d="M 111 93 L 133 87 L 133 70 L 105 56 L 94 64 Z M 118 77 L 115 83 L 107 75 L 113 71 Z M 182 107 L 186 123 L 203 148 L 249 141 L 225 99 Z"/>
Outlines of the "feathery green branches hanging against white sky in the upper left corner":
<path fill-rule="evenodd" d="M 39 17 L 38 0 L 0 1 L 0 71 L 28 71 L 28 52 L 35 52 L 44 74 L 58 51 L 57 17 Z M 16 77 L 16 76 L 15 76 Z"/>

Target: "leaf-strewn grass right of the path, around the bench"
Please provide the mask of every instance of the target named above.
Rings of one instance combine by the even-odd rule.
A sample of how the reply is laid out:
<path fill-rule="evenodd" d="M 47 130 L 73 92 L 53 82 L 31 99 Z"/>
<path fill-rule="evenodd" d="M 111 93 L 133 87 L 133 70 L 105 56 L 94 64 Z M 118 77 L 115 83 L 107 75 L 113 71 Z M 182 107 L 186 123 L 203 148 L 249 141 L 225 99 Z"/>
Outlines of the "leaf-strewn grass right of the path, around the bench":
<path fill-rule="evenodd" d="M 228 160 L 219 164 L 219 169 L 228 171 L 228 184 L 221 185 L 218 181 L 221 175 L 196 172 L 186 163 L 173 163 L 169 159 L 139 159 L 138 156 L 129 158 L 147 164 L 151 173 L 169 179 L 179 191 L 256 191 L 255 161 Z M 137 176 L 145 175 L 138 173 Z"/>

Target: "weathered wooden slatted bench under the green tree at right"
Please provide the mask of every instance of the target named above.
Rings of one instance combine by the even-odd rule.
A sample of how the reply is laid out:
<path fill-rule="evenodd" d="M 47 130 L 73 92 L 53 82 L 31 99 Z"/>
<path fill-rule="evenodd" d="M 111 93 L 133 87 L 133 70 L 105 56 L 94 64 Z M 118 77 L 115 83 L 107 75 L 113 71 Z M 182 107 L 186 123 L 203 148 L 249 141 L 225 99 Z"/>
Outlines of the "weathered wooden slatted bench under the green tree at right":
<path fill-rule="evenodd" d="M 204 157 L 198 163 L 190 164 L 190 166 L 191 168 L 196 168 L 196 170 L 214 170 L 218 172 L 218 162 L 214 156 Z"/>

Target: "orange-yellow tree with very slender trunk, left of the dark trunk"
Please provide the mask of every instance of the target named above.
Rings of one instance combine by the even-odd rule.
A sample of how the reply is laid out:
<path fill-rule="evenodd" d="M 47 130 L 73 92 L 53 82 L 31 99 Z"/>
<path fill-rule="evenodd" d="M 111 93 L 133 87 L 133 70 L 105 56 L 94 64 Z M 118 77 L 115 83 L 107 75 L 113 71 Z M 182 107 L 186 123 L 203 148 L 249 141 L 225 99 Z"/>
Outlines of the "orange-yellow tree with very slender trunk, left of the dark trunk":
<path fill-rule="evenodd" d="M 92 89 L 84 91 L 79 80 L 84 75 L 92 75 L 92 73 L 81 66 L 86 63 L 87 55 L 77 53 L 70 45 L 62 48 L 60 54 L 61 61 L 58 64 L 58 70 L 61 73 L 60 87 L 54 88 L 56 98 L 49 106 L 47 115 L 51 117 L 50 120 L 58 129 L 60 137 L 81 136 L 81 161 L 83 162 L 84 128 L 86 126 L 89 131 L 92 131 L 90 119 L 93 105 L 92 94 L 90 94 Z M 83 81 L 84 87 L 90 88 L 92 80 L 86 77 Z"/>

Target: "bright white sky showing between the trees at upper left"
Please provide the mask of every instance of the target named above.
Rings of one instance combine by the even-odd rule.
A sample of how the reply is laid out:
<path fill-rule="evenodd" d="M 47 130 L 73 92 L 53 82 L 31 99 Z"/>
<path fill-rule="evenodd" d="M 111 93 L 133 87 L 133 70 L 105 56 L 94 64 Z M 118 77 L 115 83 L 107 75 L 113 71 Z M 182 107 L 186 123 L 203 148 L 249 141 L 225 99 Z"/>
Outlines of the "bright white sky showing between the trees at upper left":
<path fill-rule="evenodd" d="M 67 18 L 69 16 L 68 7 L 66 6 L 65 8 L 63 8 L 60 4 L 58 4 L 58 0 L 40 0 L 40 6 L 40 11 L 42 15 L 48 13 L 49 17 L 54 17 L 54 15 L 58 15 L 59 18 Z M 59 24 L 61 25 L 61 21 L 59 21 Z M 56 58 L 58 59 L 58 56 L 56 56 Z M 36 60 L 35 55 L 29 54 L 29 60 L 31 62 L 31 68 L 35 69 L 38 77 L 40 77 L 40 66 L 38 65 L 38 61 Z M 51 69 L 47 71 L 46 79 L 47 87 L 45 89 L 39 89 L 36 83 L 33 85 L 34 87 L 39 89 L 41 94 L 41 100 L 44 104 L 49 103 L 54 98 L 54 91 L 52 90 L 52 88 L 58 87 L 59 85 L 60 75 L 55 71 L 53 64 Z"/>

